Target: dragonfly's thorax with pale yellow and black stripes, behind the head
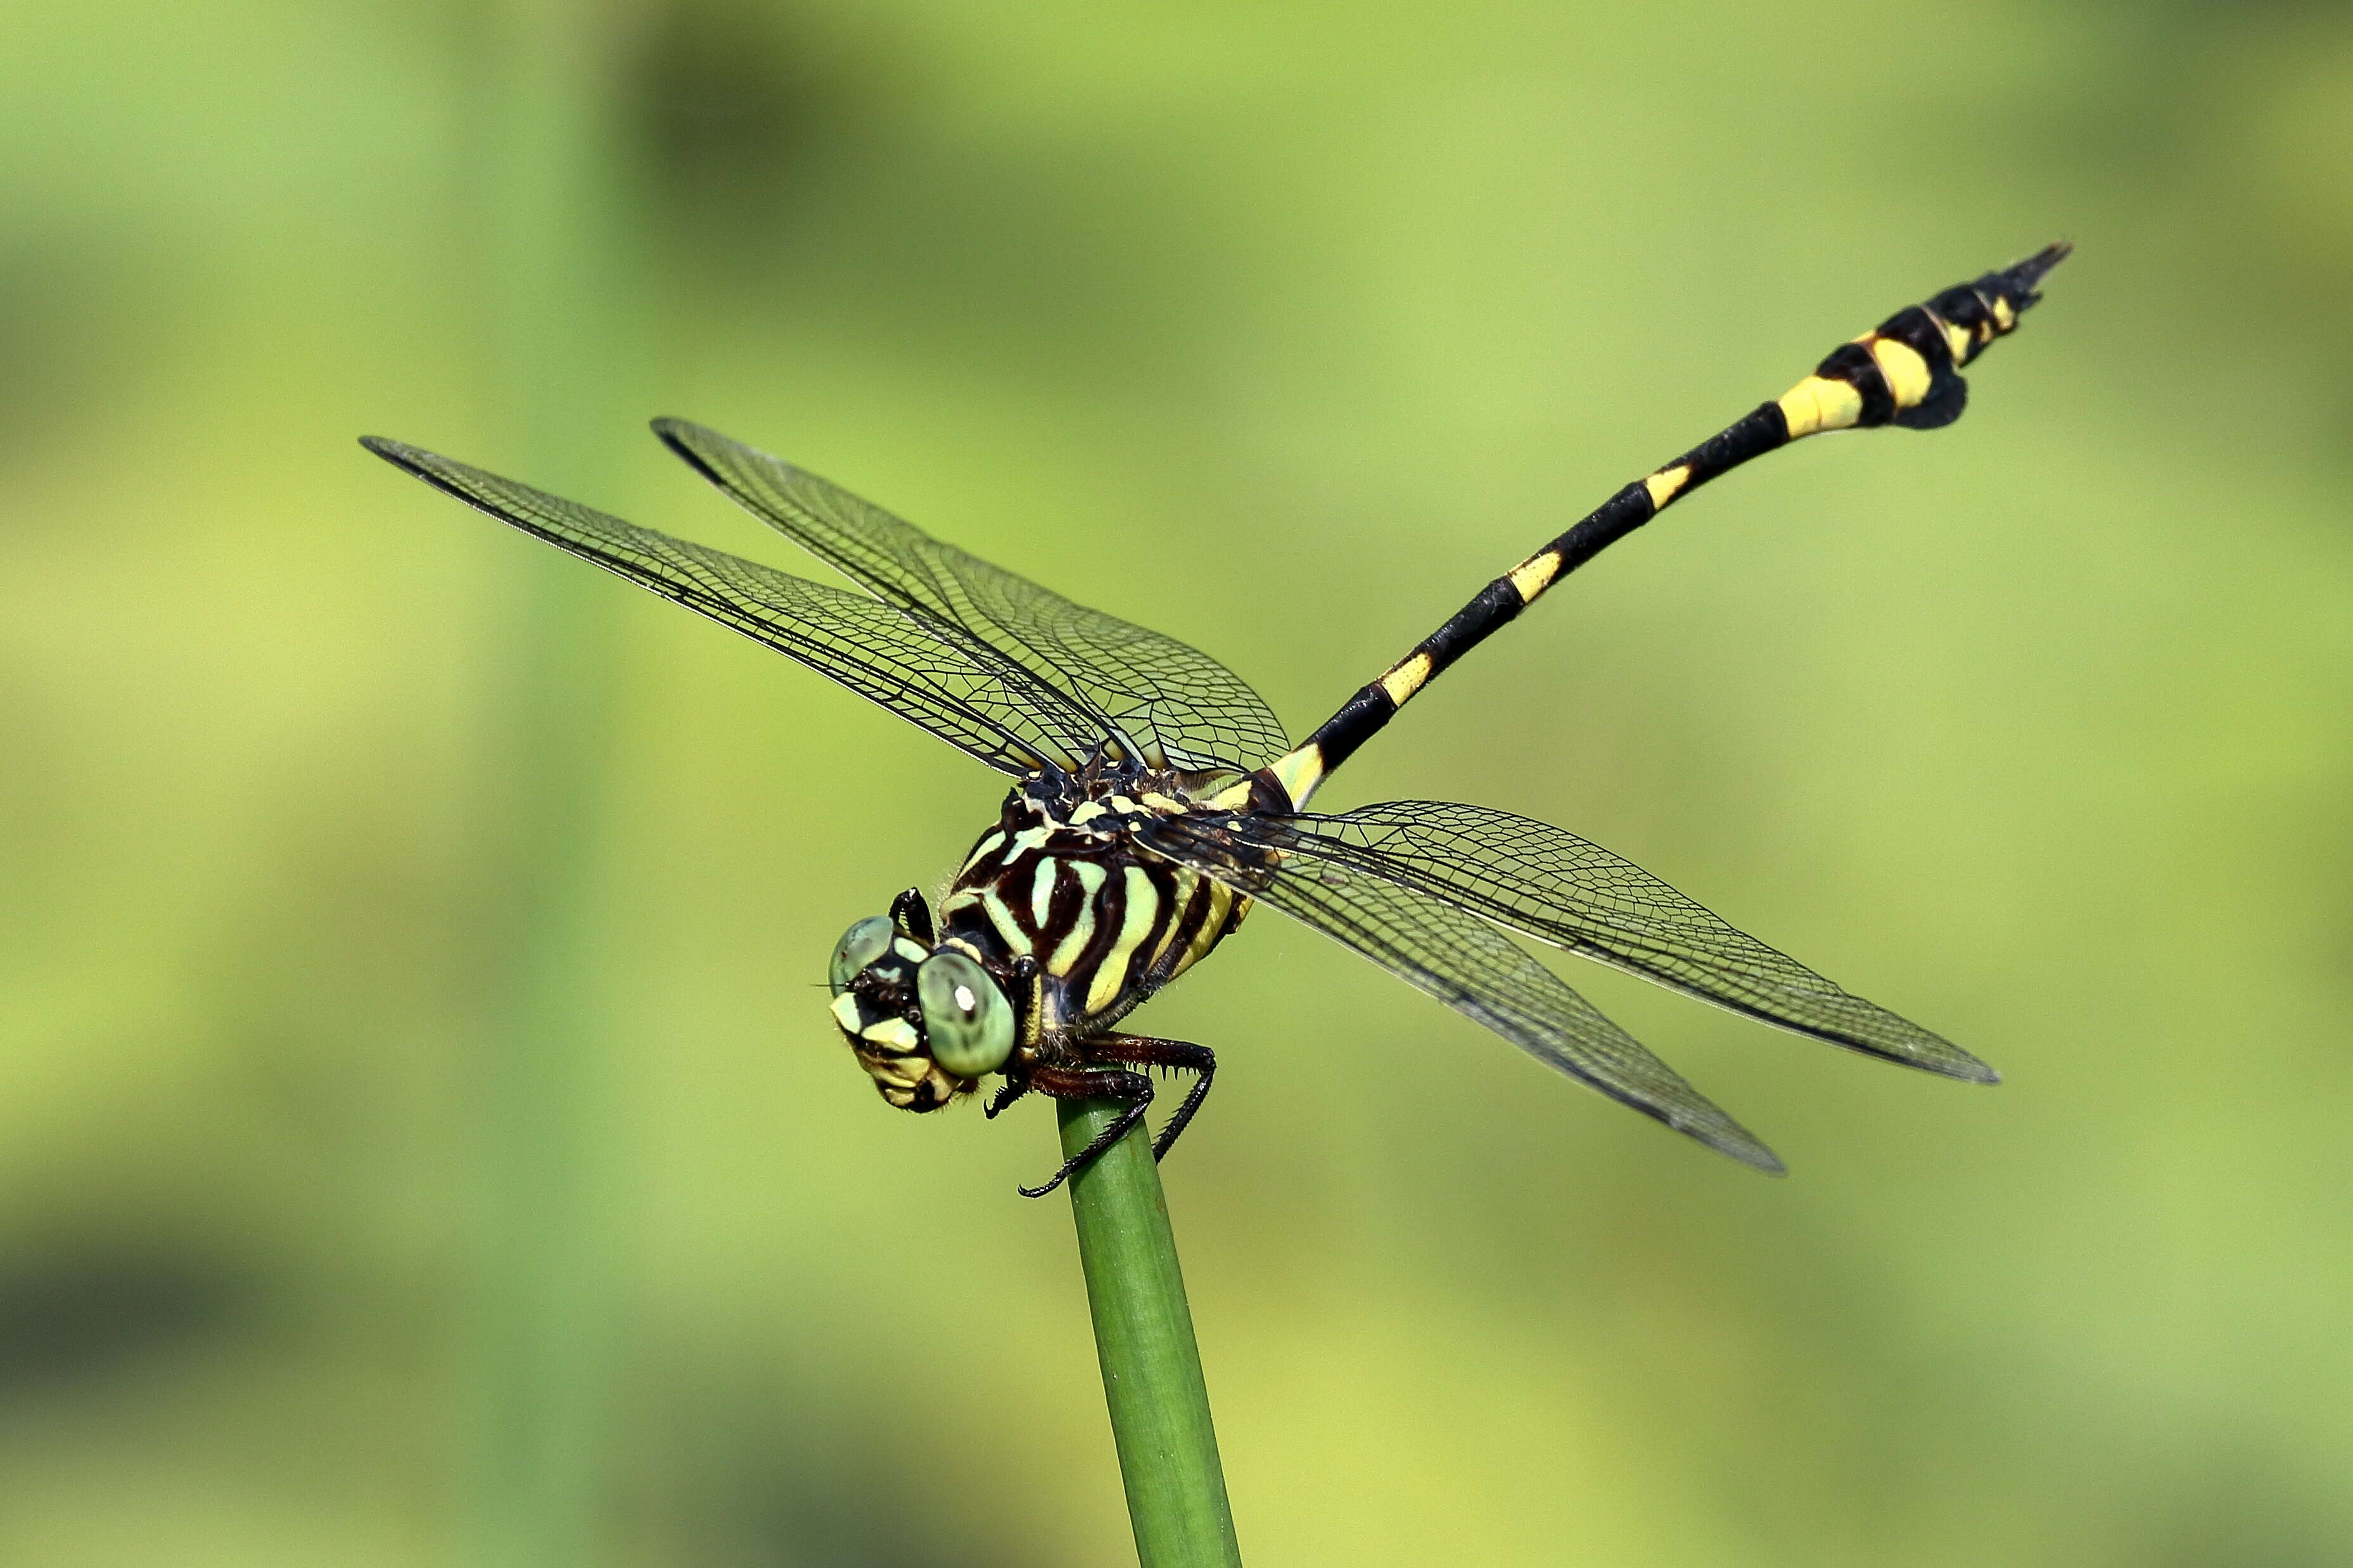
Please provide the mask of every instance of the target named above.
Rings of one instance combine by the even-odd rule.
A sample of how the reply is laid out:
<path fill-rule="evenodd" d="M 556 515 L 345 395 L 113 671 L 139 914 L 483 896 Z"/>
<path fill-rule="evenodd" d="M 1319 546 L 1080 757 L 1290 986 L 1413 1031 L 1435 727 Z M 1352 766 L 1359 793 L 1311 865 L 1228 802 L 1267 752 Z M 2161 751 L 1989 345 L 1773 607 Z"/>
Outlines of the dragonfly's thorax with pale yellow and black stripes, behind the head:
<path fill-rule="evenodd" d="M 1031 773 L 965 856 L 941 938 L 1038 964 L 1038 1034 L 1108 1027 L 1242 924 L 1249 898 L 1141 849 L 1136 823 L 1195 806 L 1165 773 Z"/>

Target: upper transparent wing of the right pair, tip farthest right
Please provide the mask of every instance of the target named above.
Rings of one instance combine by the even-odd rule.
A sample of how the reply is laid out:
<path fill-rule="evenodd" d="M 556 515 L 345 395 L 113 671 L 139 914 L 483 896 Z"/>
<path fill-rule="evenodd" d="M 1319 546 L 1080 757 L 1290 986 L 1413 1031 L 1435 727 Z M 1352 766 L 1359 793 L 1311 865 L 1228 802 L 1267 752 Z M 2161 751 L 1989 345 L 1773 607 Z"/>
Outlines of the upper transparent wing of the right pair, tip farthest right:
<path fill-rule="evenodd" d="M 1840 990 L 1640 865 L 1548 823 L 1400 799 L 1341 816 L 1242 818 L 1235 832 L 1264 849 L 1313 849 L 1322 863 L 1798 1034 L 1953 1079 L 1998 1079 L 1953 1041 Z"/>

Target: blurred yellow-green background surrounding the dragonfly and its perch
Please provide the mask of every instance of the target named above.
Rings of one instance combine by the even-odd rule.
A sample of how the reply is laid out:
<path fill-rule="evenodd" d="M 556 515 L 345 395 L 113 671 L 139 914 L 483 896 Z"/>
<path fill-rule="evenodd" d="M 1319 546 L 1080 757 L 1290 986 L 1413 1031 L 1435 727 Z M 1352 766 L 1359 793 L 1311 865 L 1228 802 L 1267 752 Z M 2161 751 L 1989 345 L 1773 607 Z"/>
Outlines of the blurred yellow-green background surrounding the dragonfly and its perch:
<path fill-rule="evenodd" d="M 391 473 L 784 567 L 788 454 L 1294 733 L 1835 341 L 1948 433 L 1614 550 L 1341 776 L 2007 1074 L 1569 978 L 1791 1161 L 1261 914 L 1160 999 L 1254 1563 L 2353 1561 L 2353 12 L 0 19 L 0 1561 L 1118 1563 L 1042 1105 L 812 983 L 998 783 Z"/>

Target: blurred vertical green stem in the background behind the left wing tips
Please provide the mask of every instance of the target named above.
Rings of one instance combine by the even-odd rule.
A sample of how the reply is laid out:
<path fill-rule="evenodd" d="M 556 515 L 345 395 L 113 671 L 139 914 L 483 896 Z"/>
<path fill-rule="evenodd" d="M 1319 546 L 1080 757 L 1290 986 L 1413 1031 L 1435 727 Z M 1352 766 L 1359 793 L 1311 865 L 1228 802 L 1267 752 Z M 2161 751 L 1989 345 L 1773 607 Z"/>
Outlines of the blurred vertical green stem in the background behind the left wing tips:
<path fill-rule="evenodd" d="M 501 0 L 473 40 L 468 270 L 489 402 L 522 473 L 593 487 L 626 296 L 614 270 L 616 160 L 605 33 L 614 5 Z M 504 545 L 504 541 L 501 541 Z M 468 1568 L 612 1559 L 614 1039 L 598 907 L 612 752 L 605 585 L 501 550 L 501 776 L 515 837 L 492 933 L 501 999 L 482 1053 L 480 1255 L 473 1269 Z"/>

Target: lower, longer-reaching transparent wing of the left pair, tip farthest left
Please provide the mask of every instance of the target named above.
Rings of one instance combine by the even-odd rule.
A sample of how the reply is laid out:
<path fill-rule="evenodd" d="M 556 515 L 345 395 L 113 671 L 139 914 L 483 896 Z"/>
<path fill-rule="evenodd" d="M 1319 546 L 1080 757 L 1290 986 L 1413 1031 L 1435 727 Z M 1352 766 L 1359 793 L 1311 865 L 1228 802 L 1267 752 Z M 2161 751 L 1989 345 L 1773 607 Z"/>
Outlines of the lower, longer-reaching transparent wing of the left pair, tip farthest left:
<path fill-rule="evenodd" d="M 640 529 L 452 458 L 367 437 L 376 456 L 525 534 L 831 675 L 1000 773 L 1075 769 L 1101 722 L 998 649 L 920 609 L 809 583 Z"/>

